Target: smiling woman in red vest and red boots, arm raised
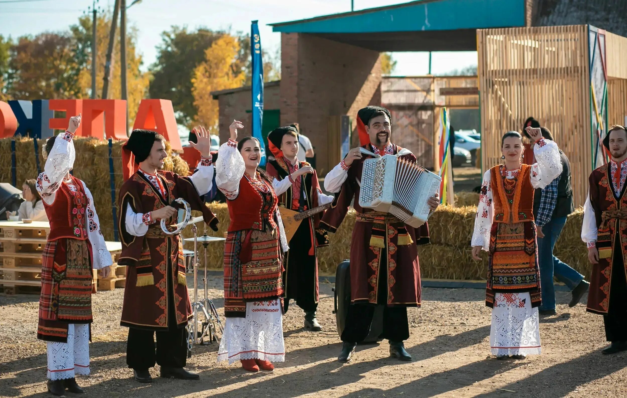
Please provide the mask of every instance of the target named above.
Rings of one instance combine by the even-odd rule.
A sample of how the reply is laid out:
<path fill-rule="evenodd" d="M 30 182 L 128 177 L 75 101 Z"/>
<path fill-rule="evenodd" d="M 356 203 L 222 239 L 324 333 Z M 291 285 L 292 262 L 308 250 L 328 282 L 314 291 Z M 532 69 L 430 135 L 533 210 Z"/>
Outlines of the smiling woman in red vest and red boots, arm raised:
<path fill-rule="evenodd" d="M 258 167 L 261 145 L 238 142 L 241 122 L 221 145 L 216 185 L 226 196 L 231 222 L 224 247 L 226 324 L 218 362 L 241 361 L 250 372 L 273 370 L 285 360 L 282 326 L 282 257 L 288 249 L 270 177 Z"/>

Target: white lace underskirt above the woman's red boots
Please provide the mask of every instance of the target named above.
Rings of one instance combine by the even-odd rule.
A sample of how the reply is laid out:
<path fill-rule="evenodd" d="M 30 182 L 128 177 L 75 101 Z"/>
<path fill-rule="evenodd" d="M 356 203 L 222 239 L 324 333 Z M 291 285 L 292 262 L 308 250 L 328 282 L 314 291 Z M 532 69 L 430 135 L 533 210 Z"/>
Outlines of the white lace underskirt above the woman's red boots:
<path fill-rule="evenodd" d="M 218 362 L 241 359 L 285 360 L 280 300 L 246 303 L 246 318 L 226 318 Z"/>

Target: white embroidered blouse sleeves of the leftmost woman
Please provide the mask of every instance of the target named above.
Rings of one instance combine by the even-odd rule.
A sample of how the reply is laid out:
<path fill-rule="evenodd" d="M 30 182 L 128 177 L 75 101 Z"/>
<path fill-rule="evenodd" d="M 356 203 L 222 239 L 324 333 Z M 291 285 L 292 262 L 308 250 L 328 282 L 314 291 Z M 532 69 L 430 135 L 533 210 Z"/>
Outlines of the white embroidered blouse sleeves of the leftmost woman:
<path fill-rule="evenodd" d="M 55 145 L 53 145 L 50 154 L 48 154 L 48 159 L 46 159 L 44 171 L 37 179 L 35 187 L 40 193 L 41 199 L 48 205 L 55 202 L 56 191 L 61 187 L 61 184 L 66 184 L 71 190 L 77 189 L 71 179 L 65 179 L 65 175 L 72 169 L 76 158 L 72 141 L 73 137 L 74 135 L 69 132 L 59 134 L 56 137 Z M 100 270 L 113 264 L 113 261 L 111 260 L 111 254 L 107 250 L 105 238 L 100 231 L 100 221 L 93 206 L 92 192 L 89 191 L 85 182 L 81 181 L 81 184 L 83 184 L 83 190 L 85 195 L 87 195 L 87 215 L 89 218 L 87 237 L 92 245 L 92 266 L 95 270 Z"/>

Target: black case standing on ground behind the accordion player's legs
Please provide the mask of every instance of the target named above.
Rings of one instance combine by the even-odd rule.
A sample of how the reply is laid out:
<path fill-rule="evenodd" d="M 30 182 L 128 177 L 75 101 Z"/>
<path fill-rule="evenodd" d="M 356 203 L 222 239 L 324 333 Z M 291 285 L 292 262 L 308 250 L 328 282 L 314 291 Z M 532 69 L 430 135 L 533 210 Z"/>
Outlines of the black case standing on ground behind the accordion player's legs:
<path fill-rule="evenodd" d="M 334 291 L 334 311 L 335 323 L 337 324 L 337 334 L 342 336 L 346 326 L 346 315 L 350 305 L 350 261 L 344 260 L 335 270 L 335 288 Z M 384 306 L 377 305 L 372 316 L 370 325 L 370 333 L 362 342 L 358 343 L 376 343 L 383 340 L 379 337 L 383 332 L 383 310 Z"/>

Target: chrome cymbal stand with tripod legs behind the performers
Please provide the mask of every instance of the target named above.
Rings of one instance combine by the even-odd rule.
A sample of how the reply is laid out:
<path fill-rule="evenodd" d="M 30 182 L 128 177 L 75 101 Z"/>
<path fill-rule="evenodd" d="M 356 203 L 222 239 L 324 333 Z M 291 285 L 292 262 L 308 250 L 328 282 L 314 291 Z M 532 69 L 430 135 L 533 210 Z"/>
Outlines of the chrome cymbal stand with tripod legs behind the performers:
<path fill-rule="evenodd" d="M 194 347 L 194 344 L 207 345 L 218 341 L 218 338 L 216 337 L 216 323 L 218 323 L 220 333 L 224 332 L 224 327 L 220 321 L 216 306 L 213 305 L 213 301 L 209 300 L 207 297 L 207 246 L 209 245 L 209 241 L 207 239 L 201 241 L 204 247 L 204 278 L 202 278 L 204 298 L 201 301 L 198 301 L 198 228 L 196 228 L 196 224 L 192 225 L 192 232 L 194 233 L 194 259 L 192 266 L 194 269 L 194 302 L 191 303 L 192 318 L 189 322 L 187 322 L 188 358 L 191 357 L 191 350 Z M 204 236 L 206 236 L 206 233 Z M 200 330 L 198 330 L 198 322 L 200 320 L 198 317 L 199 312 L 202 312 L 204 316 L 204 320 L 201 322 Z M 209 340 L 205 341 L 205 337 L 208 337 Z"/>

